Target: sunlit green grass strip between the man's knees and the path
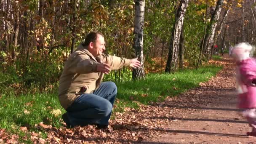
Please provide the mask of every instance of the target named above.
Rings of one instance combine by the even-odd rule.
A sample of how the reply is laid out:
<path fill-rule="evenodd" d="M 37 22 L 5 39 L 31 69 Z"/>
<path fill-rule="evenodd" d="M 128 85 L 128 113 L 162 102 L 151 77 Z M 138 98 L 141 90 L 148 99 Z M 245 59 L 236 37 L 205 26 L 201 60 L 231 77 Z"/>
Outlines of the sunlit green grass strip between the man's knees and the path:
<path fill-rule="evenodd" d="M 145 80 L 117 83 L 117 99 L 122 102 L 122 107 L 134 107 L 136 103 L 133 101 L 148 104 L 150 101 L 163 100 L 166 96 L 176 96 L 199 86 L 200 82 L 209 80 L 220 69 L 221 67 L 206 66 L 197 71 L 186 69 L 174 74 L 151 74 Z"/>

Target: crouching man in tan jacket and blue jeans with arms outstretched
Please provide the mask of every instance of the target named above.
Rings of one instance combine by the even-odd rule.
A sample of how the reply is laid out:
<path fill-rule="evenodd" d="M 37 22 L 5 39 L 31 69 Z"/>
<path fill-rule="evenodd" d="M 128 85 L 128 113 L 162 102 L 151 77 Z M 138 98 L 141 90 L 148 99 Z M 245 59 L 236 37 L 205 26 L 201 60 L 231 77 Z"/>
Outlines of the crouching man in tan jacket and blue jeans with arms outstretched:
<path fill-rule="evenodd" d="M 122 67 L 140 67 L 137 59 L 104 54 L 105 41 L 99 32 L 91 32 L 65 62 L 59 81 L 59 101 L 66 109 L 62 115 L 67 127 L 96 124 L 107 128 L 117 87 L 101 83 L 104 74 Z"/>

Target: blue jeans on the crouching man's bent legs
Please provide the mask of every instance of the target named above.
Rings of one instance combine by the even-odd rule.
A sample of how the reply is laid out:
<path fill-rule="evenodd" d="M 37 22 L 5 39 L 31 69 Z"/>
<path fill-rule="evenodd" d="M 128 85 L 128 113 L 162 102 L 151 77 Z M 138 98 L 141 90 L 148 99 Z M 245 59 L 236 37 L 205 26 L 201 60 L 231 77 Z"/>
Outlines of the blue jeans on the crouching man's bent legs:
<path fill-rule="evenodd" d="M 70 125 L 108 125 L 116 95 L 115 83 L 103 82 L 93 93 L 79 96 L 67 108 Z"/>

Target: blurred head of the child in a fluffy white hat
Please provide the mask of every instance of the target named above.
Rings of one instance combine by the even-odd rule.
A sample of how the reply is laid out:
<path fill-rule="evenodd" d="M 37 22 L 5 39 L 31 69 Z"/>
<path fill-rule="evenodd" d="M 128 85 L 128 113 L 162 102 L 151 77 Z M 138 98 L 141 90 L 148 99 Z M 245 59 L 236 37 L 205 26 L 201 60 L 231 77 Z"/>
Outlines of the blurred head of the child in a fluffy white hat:
<path fill-rule="evenodd" d="M 232 56 L 235 61 L 242 61 L 250 58 L 253 53 L 253 47 L 248 43 L 239 43 L 232 51 Z"/>

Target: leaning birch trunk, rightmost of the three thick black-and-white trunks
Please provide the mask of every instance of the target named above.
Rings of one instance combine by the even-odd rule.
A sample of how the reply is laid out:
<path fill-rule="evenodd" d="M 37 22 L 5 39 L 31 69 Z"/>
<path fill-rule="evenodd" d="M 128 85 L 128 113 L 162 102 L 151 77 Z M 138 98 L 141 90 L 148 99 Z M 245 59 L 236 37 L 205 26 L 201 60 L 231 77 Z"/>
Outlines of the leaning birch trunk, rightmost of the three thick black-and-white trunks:
<path fill-rule="evenodd" d="M 209 54 L 211 52 L 211 47 L 213 45 L 213 37 L 215 34 L 215 30 L 219 21 L 219 16 L 221 13 L 221 8 L 224 0 L 218 0 L 215 10 L 213 12 L 213 15 L 211 16 L 211 21 L 209 26 L 207 27 L 206 30 L 206 35 L 205 35 L 205 43 L 203 43 L 203 51 L 206 54 L 206 56 L 209 58 Z"/>

